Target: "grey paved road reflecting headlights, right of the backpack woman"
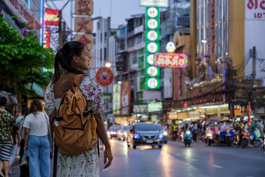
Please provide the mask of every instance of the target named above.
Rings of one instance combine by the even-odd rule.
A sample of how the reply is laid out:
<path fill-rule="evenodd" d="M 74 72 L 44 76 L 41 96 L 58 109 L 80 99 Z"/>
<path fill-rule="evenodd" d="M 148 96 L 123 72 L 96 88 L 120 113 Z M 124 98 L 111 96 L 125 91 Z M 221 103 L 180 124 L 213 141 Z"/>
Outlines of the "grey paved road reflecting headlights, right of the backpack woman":
<path fill-rule="evenodd" d="M 265 177 L 265 154 L 261 148 L 241 149 L 223 145 L 193 143 L 185 148 L 181 142 L 168 142 L 162 149 L 149 146 L 128 148 L 126 142 L 111 140 L 114 161 L 102 169 L 100 176 L 243 176 Z M 18 175 L 18 166 L 13 166 Z"/>

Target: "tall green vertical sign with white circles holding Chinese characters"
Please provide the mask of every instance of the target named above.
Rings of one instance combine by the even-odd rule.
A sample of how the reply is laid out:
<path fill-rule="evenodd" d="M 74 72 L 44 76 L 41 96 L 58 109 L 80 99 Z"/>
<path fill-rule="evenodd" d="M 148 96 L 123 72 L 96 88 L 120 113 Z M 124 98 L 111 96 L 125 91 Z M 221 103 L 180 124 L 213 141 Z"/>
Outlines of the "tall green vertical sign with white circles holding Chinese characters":
<path fill-rule="evenodd" d="M 153 54 L 160 52 L 160 9 L 147 7 L 145 17 L 145 88 L 160 89 L 160 68 L 152 66 Z"/>

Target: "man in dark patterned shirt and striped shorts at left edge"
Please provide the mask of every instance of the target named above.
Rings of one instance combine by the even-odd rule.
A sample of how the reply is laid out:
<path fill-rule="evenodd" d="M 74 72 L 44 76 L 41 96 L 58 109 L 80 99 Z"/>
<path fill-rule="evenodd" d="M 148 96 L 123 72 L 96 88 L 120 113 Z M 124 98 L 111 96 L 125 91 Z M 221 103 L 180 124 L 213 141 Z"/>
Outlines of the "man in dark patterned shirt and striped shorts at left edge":
<path fill-rule="evenodd" d="M 12 115 L 5 110 L 7 104 L 6 97 L 0 97 L 0 159 L 3 162 L 4 173 L 0 167 L 0 175 L 7 177 L 9 175 L 10 150 L 13 144 L 11 130 L 14 119 Z M 1 165 L 0 165 L 1 166 Z"/>

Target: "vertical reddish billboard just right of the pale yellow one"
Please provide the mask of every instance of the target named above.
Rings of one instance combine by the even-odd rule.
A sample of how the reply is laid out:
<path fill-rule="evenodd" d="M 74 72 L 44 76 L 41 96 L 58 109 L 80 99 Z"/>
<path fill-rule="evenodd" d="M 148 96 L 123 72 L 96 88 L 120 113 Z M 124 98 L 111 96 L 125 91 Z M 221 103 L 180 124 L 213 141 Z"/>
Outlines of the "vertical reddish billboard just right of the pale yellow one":
<path fill-rule="evenodd" d="M 121 84 L 121 115 L 129 115 L 131 108 L 131 81 Z"/>

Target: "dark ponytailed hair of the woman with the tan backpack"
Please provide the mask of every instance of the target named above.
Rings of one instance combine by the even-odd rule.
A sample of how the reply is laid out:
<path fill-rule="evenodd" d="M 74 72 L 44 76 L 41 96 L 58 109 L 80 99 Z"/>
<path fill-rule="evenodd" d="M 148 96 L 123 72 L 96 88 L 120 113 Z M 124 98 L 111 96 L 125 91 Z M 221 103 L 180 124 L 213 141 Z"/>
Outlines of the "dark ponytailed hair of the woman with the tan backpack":
<path fill-rule="evenodd" d="M 73 40 L 66 42 L 62 49 L 57 51 L 55 56 L 55 75 L 54 79 L 52 79 L 52 83 L 55 83 L 61 75 L 59 64 L 68 72 L 84 74 L 82 71 L 71 67 L 73 56 L 81 56 L 82 50 L 84 48 L 85 46 L 82 42 Z"/>

